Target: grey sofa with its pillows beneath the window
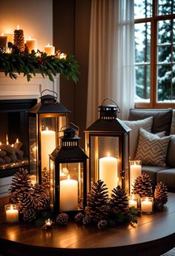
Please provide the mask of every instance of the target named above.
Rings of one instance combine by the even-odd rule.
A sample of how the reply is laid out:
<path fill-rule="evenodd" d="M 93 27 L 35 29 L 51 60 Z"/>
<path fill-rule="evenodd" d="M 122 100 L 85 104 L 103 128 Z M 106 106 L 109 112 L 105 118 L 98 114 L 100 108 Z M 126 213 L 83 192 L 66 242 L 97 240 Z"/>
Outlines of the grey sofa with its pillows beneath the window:
<path fill-rule="evenodd" d="M 165 183 L 175 191 L 175 110 L 131 108 L 131 160 L 142 160 L 142 173 L 151 177 L 153 186 Z"/>

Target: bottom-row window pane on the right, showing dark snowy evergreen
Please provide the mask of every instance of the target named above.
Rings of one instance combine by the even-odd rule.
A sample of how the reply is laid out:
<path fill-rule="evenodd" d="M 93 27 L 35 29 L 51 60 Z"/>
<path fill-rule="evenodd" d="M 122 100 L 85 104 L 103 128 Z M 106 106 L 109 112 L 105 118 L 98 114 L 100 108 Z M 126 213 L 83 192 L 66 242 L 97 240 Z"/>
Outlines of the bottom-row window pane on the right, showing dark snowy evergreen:
<path fill-rule="evenodd" d="M 158 65 L 157 69 L 158 102 L 175 102 L 175 67 L 172 67 L 171 65 Z"/>

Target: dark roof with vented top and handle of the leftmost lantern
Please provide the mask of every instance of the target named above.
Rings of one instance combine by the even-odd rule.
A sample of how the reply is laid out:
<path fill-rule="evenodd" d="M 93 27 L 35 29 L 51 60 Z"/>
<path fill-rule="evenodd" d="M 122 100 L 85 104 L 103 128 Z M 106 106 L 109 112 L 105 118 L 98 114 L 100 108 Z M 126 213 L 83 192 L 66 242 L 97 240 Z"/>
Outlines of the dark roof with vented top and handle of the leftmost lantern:
<path fill-rule="evenodd" d="M 44 90 L 44 91 L 50 91 L 50 90 Z M 44 92 L 42 91 L 42 93 Z M 67 108 L 65 108 L 64 105 L 58 102 L 58 94 L 53 91 L 53 93 L 56 93 L 56 96 L 47 94 L 42 96 L 41 93 L 41 102 L 37 103 L 33 106 L 33 108 L 30 108 L 28 111 L 29 113 L 33 114 L 47 114 L 47 113 L 70 113 Z"/>

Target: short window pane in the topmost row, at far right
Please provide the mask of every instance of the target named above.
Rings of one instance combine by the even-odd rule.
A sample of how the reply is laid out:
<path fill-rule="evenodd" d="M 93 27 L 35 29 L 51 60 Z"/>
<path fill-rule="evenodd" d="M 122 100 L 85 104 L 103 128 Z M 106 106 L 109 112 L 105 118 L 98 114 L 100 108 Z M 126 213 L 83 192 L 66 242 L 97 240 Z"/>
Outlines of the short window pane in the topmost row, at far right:
<path fill-rule="evenodd" d="M 159 0 L 158 1 L 158 15 L 168 15 L 174 13 L 175 1 L 174 0 Z"/>

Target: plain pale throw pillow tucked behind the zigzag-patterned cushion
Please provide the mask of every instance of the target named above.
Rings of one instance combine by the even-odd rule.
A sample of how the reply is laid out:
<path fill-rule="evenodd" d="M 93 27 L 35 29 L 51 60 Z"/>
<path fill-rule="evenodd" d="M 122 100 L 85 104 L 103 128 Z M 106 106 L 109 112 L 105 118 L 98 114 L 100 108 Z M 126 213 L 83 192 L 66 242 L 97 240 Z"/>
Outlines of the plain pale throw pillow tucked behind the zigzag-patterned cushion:
<path fill-rule="evenodd" d="M 128 125 L 129 128 L 131 128 L 130 131 L 130 157 L 131 160 L 134 159 L 134 156 L 136 155 L 136 148 L 139 141 L 139 128 L 143 128 L 146 131 L 151 132 L 151 128 L 153 125 L 153 116 L 150 116 L 148 118 L 142 119 L 142 120 L 136 120 L 136 121 L 123 121 L 125 125 Z"/>

